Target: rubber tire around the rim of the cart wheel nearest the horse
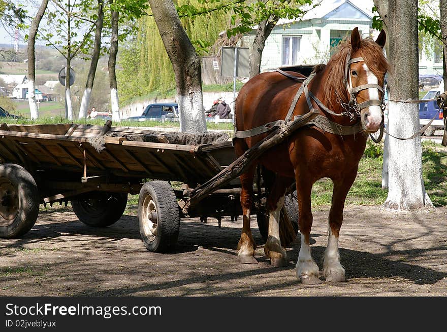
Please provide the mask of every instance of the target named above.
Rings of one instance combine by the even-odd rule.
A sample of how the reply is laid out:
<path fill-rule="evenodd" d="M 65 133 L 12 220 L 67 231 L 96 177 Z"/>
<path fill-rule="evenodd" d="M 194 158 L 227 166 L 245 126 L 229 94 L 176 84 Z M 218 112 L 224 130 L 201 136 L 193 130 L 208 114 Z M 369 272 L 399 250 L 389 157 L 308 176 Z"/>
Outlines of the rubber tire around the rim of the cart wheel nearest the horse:
<path fill-rule="evenodd" d="M 157 235 L 150 239 L 144 232 L 143 202 L 147 195 L 152 197 L 157 211 Z M 180 214 L 174 190 L 166 181 L 144 183 L 138 198 L 138 221 L 144 246 L 152 252 L 172 251 L 177 244 L 180 231 Z"/>

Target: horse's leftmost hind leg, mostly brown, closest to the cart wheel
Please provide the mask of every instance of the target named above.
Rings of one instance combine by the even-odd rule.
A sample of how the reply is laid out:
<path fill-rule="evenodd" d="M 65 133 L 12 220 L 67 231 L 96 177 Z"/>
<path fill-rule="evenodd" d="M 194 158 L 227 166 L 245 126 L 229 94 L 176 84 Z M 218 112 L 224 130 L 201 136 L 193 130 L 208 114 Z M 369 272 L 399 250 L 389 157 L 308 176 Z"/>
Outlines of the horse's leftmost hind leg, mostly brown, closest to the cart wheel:
<path fill-rule="evenodd" d="M 241 263 L 257 264 L 258 261 L 254 258 L 254 249 L 256 244 L 251 236 L 250 228 L 250 210 L 253 201 L 253 177 L 256 165 L 250 168 L 239 176 L 241 180 L 241 206 L 243 215 L 243 226 L 241 239 L 238 243 L 238 256 Z"/>

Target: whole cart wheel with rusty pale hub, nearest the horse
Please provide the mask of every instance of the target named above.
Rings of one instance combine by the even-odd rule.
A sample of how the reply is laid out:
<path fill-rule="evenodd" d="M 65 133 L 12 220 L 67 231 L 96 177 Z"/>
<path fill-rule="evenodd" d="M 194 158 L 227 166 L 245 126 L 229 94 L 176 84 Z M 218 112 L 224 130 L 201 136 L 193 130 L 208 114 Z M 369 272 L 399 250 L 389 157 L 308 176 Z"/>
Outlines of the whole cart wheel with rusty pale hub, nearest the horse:
<path fill-rule="evenodd" d="M 144 183 L 138 199 L 138 220 L 147 250 L 165 252 L 175 247 L 180 215 L 174 190 L 168 182 Z"/>

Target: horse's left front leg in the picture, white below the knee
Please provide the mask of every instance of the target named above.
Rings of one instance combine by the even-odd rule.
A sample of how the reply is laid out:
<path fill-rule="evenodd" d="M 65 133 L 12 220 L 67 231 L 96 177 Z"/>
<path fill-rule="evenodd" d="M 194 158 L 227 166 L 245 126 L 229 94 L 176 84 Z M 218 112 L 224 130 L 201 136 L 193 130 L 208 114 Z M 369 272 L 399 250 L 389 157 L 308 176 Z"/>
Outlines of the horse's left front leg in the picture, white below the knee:
<path fill-rule="evenodd" d="M 310 204 L 310 194 L 312 183 L 306 180 L 305 176 L 299 176 L 296 172 L 298 209 L 298 226 L 301 233 L 301 247 L 296 265 L 297 277 L 305 284 L 318 284 L 322 281 L 318 278 L 320 270 L 312 259 L 310 253 L 310 230 L 312 228 L 312 209 Z M 301 178 L 300 178 L 301 177 Z"/>

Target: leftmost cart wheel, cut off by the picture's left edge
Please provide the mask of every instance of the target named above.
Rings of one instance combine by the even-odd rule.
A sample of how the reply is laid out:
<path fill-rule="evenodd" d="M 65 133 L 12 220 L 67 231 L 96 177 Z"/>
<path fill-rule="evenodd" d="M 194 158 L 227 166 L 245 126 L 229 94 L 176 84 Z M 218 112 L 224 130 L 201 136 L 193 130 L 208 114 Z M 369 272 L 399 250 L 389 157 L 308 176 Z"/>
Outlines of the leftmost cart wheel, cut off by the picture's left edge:
<path fill-rule="evenodd" d="M 36 181 L 26 169 L 0 165 L 0 237 L 17 238 L 33 228 L 39 203 Z"/>

